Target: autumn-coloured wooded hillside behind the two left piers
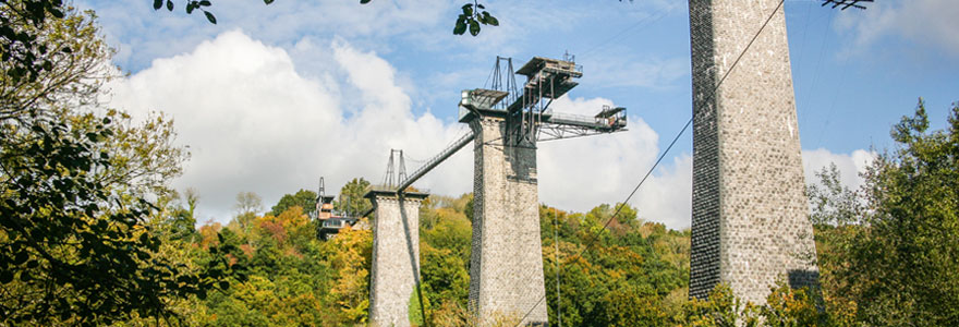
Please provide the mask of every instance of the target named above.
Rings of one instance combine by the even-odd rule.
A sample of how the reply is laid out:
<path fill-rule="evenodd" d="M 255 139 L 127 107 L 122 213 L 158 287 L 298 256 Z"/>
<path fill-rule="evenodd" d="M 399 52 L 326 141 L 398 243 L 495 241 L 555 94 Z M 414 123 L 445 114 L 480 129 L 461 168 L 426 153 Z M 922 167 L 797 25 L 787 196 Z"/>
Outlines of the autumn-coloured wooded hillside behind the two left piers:
<path fill-rule="evenodd" d="M 344 189 L 368 184 L 364 182 L 355 180 Z M 172 220 L 187 214 L 187 206 L 184 201 L 170 202 L 163 210 L 167 218 L 160 220 L 174 226 Z M 433 196 L 421 208 L 422 280 L 425 323 L 429 325 L 469 323 L 471 209 L 470 194 Z M 230 277 L 226 290 L 205 300 L 191 298 L 179 303 L 174 311 L 184 313 L 186 322 L 323 326 L 366 322 L 371 231 L 349 230 L 331 241 L 320 241 L 316 221 L 300 206 L 277 216 L 256 216 L 247 227 L 239 219 L 243 214 L 238 213 L 227 226 L 207 225 L 195 233 L 166 240 L 185 250 L 179 257 L 193 256 L 199 262 L 209 255 L 204 249 L 228 247 L 224 255 L 230 264 L 244 267 Z M 603 229 L 611 214 L 609 205 L 586 214 L 541 207 L 546 283 L 556 284 L 559 267 L 563 322 L 609 326 L 630 325 L 636 318 L 659 322 L 677 317 L 687 298 L 689 232 L 642 223 L 629 207 L 610 228 Z M 594 245 L 587 249 L 588 243 Z M 555 316 L 556 292 L 548 293 L 550 315 Z"/>

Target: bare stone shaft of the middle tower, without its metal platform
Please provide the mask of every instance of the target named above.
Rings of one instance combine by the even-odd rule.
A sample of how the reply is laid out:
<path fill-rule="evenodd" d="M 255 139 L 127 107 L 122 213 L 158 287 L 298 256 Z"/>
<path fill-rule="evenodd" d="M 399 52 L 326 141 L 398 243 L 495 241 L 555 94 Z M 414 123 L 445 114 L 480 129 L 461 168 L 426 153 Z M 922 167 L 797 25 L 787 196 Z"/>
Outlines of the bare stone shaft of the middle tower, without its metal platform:
<path fill-rule="evenodd" d="M 497 319 L 546 325 L 536 149 L 505 146 L 501 119 L 470 122 L 474 141 L 470 310 L 478 326 Z"/>

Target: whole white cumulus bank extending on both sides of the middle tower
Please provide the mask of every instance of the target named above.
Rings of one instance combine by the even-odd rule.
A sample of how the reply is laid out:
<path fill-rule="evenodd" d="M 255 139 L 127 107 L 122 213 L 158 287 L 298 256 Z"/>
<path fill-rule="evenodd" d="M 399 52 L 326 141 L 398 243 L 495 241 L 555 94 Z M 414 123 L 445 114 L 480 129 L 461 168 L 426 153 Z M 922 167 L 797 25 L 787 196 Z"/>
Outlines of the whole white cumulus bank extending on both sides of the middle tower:
<path fill-rule="evenodd" d="M 226 221 L 241 191 L 264 205 L 314 189 L 320 175 L 333 192 L 354 177 L 379 182 L 390 148 L 426 159 L 465 132 L 430 112 L 413 114 L 398 72 L 375 52 L 337 39 L 323 50 L 313 76 L 298 73 L 290 55 L 242 32 L 224 33 L 193 51 L 155 60 L 111 85 L 111 105 L 135 116 L 163 111 L 175 120 L 192 159 L 174 187 L 196 187 L 201 220 Z M 610 100 L 561 98 L 553 109 L 593 114 Z M 542 143 L 541 202 L 571 210 L 616 203 L 632 190 L 658 152 L 658 135 L 640 117 L 630 131 Z M 690 158 L 660 169 L 632 201 L 644 218 L 680 228 L 689 218 Z M 416 162 L 408 162 L 415 169 Z M 472 191 L 472 153 L 463 150 L 417 182 L 435 194 Z"/>

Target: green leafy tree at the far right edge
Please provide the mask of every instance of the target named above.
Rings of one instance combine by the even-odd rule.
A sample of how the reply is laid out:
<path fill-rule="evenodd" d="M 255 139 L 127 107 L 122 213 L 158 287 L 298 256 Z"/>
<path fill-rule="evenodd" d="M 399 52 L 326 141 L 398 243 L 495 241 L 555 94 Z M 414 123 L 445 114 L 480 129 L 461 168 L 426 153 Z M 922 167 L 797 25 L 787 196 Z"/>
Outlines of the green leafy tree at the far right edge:
<path fill-rule="evenodd" d="M 959 325 L 959 102 L 945 131 L 928 128 L 920 99 L 865 174 L 869 213 L 840 291 L 867 325 Z"/>

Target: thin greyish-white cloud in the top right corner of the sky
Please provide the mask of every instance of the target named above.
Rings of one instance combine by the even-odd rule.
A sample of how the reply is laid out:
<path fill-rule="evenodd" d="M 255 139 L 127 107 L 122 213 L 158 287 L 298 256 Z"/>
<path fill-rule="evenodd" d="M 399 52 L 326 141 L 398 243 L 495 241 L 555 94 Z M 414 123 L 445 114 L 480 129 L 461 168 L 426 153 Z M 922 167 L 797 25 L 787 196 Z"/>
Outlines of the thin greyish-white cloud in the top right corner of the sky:
<path fill-rule="evenodd" d="M 837 19 L 836 27 L 855 34 L 864 49 L 888 36 L 942 48 L 959 56 L 959 2 L 955 0 L 877 1 L 869 10 L 853 10 Z M 866 51 L 866 50 L 863 50 Z"/>

